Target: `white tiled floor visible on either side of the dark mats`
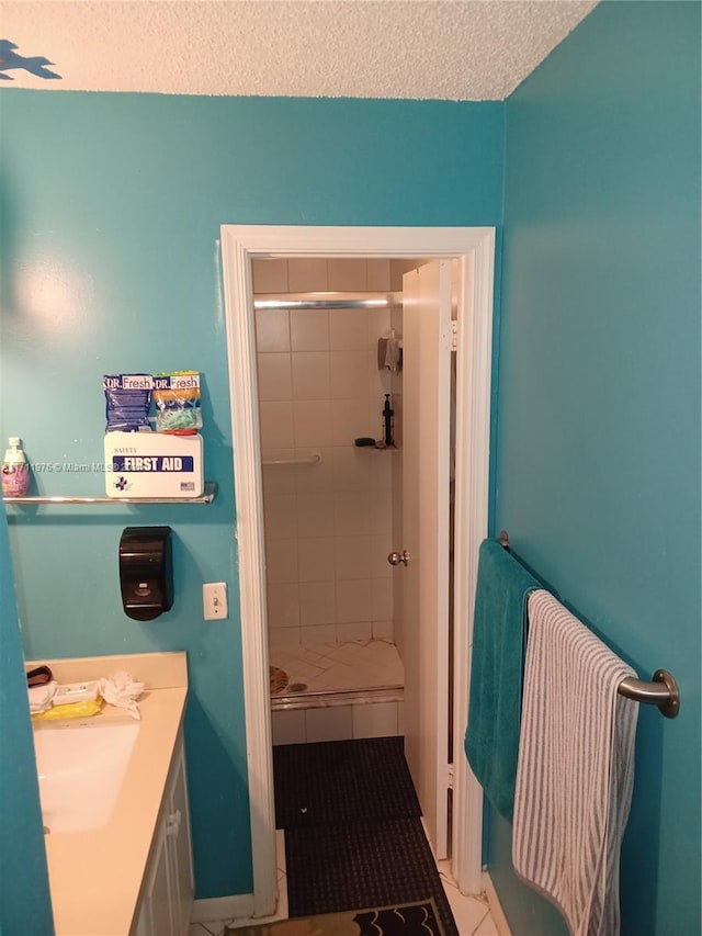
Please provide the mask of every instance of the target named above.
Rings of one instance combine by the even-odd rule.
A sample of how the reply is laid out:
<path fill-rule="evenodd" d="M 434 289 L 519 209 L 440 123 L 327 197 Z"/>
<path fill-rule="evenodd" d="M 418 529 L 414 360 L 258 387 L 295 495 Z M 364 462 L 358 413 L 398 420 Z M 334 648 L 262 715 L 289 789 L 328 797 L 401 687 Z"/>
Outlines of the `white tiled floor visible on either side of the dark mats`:
<path fill-rule="evenodd" d="M 276 832 L 276 842 L 279 886 L 278 912 L 274 916 L 267 917 L 267 920 L 257 921 L 258 923 L 287 918 L 285 839 L 284 832 L 281 830 Z M 484 895 L 479 898 L 463 896 L 463 894 L 458 892 L 455 881 L 451 877 L 449 865 L 449 861 L 439 861 L 437 867 L 439 868 L 439 875 L 441 876 L 446 896 L 449 898 L 449 903 L 451 904 L 451 910 L 453 912 L 453 917 L 456 922 L 460 936 L 503 936 L 495 925 L 487 899 Z M 212 923 L 193 923 L 190 926 L 189 936 L 222 936 L 226 926 L 236 928 L 237 925 L 246 926 L 248 923 L 249 921 L 246 920 L 220 920 Z"/>

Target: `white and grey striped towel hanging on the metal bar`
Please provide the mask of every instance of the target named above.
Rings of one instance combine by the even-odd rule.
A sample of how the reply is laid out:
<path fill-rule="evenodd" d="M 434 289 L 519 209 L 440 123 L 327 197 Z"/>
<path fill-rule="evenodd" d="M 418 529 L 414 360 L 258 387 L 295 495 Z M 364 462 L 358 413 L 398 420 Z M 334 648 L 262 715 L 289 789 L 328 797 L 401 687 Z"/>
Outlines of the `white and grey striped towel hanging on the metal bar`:
<path fill-rule="evenodd" d="M 620 932 L 638 717 L 616 691 L 626 676 L 636 674 L 552 595 L 532 591 L 512 861 L 573 936 Z"/>

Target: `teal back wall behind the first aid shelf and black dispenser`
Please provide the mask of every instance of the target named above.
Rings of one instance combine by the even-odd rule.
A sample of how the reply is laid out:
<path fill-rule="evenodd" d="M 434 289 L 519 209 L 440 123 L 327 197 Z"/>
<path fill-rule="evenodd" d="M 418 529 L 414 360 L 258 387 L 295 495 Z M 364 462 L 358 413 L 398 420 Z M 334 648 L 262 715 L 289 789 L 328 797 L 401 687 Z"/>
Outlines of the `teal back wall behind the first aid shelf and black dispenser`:
<path fill-rule="evenodd" d="M 497 225 L 500 103 L 0 92 L 2 437 L 35 462 L 102 458 L 103 373 L 204 374 L 210 507 L 10 508 L 32 657 L 186 650 L 196 896 L 251 890 L 219 225 Z M 101 493 L 100 474 L 35 490 Z M 174 532 L 176 602 L 121 608 L 125 526 Z M 202 620 L 201 584 L 230 616 Z"/>

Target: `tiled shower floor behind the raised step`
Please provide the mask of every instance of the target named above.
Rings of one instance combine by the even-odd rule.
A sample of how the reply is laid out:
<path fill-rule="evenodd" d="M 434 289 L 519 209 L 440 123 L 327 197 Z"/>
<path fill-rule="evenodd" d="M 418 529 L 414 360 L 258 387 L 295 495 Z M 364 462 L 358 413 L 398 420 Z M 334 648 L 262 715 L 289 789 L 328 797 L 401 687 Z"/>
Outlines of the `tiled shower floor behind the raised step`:
<path fill-rule="evenodd" d="M 403 662 L 395 644 L 385 640 L 286 644 L 271 646 L 269 655 L 271 665 L 288 677 L 287 688 L 273 697 L 273 708 L 281 697 L 403 687 Z"/>

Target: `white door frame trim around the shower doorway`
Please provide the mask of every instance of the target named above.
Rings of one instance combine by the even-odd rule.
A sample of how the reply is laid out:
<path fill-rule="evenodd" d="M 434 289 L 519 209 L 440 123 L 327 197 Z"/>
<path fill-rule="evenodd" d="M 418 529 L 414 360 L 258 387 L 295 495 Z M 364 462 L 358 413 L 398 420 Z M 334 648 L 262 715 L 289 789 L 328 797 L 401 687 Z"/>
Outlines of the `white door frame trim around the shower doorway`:
<path fill-rule="evenodd" d="M 275 906 L 265 553 L 251 260 L 456 258 L 458 290 L 454 541 L 453 875 L 480 891 L 483 796 L 463 754 L 478 546 L 487 535 L 495 229 L 491 227 L 287 227 L 223 225 L 223 285 L 239 552 L 241 653 L 253 862 L 252 916 Z M 465 518 L 465 522 L 462 521 Z"/>

